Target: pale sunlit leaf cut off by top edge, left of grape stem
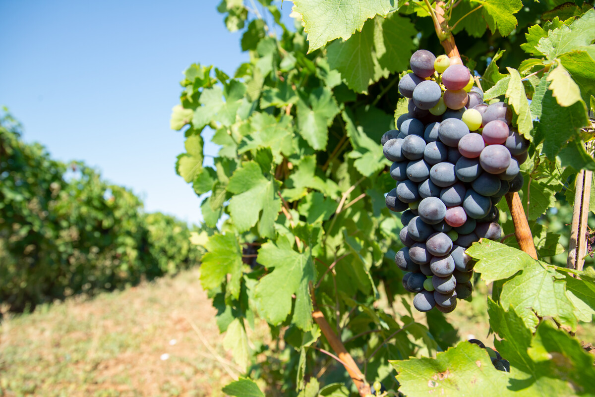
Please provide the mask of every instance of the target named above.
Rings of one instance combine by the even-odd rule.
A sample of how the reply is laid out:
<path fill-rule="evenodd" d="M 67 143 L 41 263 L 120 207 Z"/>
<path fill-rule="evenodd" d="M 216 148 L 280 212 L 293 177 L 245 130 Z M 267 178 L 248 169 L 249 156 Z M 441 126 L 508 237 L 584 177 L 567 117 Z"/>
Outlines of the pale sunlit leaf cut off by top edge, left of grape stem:
<path fill-rule="evenodd" d="M 380 14 L 385 17 L 393 0 L 295 0 L 293 11 L 302 14 L 308 33 L 308 52 L 341 37 L 347 40 L 364 22 Z"/>

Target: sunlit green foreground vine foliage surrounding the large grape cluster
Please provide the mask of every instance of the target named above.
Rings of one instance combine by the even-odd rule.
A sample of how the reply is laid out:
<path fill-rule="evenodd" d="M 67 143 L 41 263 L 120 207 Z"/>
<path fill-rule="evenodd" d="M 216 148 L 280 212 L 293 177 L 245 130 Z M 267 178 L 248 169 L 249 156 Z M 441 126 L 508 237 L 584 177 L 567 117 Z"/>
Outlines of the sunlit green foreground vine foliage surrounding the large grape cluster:
<path fill-rule="evenodd" d="M 184 72 L 171 115 L 186 137 L 176 169 L 201 197 L 206 225 L 220 229 L 205 243 L 201 282 L 234 361 L 256 380 L 231 383 L 227 394 L 262 395 L 257 384 L 267 395 L 357 393 L 324 354 L 332 349 L 312 320 L 316 309 L 369 384 L 407 396 L 595 395 L 594 357 L 569 333 L 593 320 L 595 271 L 565 268 L 569 228 L 550 230 L 544 218 L 572 203 L 580 169 L 595 169 L 585 146 L 595 10 L 556 0 L 441 9 L 486 100 L 508 103 L 531 141 L 519 194 L 539 260 L 518 250 L 505 200 L 503 241 L 468 250 L 478 260 L 475 284 L 493 291 L 473 299 L 488 300 L 490 345 L 511 364 L 502 372 L 453 336 L 448 315 L 416 322 L 394 264 L 402 224 L 384 203 L 394 181 L 380 137 L 407 112 L 396 87 L 412 52 L 444 52 L 449 32 L 436 34 L 428 5 L 295 0 L 288 27 L 270 0 L 223 0 L 218 10 L 230 31 L 242 31 L 250 61 L 233 75 L 201 64 Z M 204 151 L 205 128 L 217 153 Z M 203 165 L 206 155 L 213 166 Z M 379 308 L 383 300 L 400 310 Z M 269 324 L 270 343 L 249 340 L 256 318 Z"/>

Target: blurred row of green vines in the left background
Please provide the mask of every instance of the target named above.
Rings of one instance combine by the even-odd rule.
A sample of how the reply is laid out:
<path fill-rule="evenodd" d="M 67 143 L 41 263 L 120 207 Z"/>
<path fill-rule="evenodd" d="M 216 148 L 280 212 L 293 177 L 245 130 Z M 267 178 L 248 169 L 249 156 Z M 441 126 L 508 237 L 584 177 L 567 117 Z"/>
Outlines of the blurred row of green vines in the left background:
<path fill-rule="evenodd" d="M 186 223 L 81 162 L 52 160 L 0 121 L 0 301 L 13 311 L 118 289 L 200 261 Z"/>

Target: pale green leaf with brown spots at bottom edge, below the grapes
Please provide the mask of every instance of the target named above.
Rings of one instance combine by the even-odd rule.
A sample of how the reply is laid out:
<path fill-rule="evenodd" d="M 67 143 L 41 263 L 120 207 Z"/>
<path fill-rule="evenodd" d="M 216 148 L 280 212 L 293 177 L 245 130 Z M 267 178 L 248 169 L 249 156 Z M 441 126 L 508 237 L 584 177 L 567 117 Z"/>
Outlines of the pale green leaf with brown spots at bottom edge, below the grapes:
<path fill-rule="evenodd" d="M 404 395 L 506 395 L 507 374 L 494 368 L 486 350 L 467 341 L 439 352 L 435 359 L 422 357 L 389 362 L 397 370 L 399 391 Z"/>

